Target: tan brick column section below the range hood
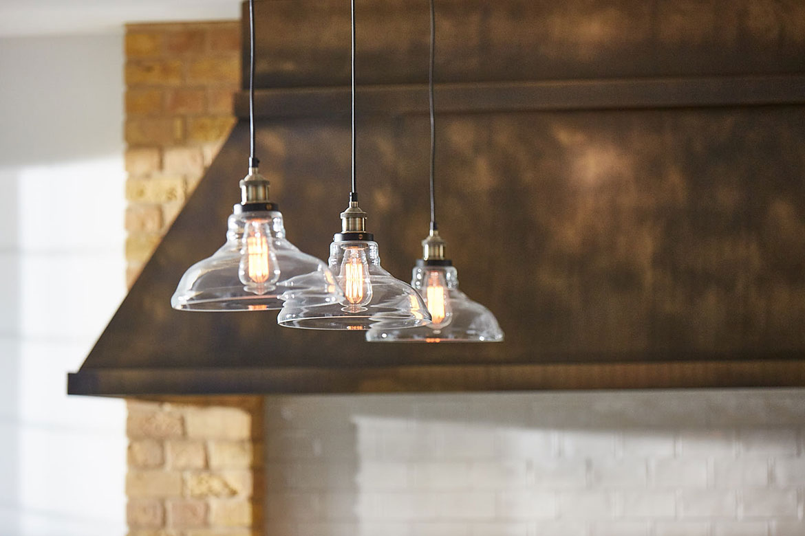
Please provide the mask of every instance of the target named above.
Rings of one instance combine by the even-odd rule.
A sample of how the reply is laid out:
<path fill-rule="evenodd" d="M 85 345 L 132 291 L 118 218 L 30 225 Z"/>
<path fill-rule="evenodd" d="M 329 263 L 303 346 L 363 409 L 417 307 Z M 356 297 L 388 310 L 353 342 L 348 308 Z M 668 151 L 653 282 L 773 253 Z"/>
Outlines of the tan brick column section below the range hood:
<path fill-rule="evenodd" d="M 262 505 L 262 399 L 129 400 L 130 536 L 251 536 Z"/>

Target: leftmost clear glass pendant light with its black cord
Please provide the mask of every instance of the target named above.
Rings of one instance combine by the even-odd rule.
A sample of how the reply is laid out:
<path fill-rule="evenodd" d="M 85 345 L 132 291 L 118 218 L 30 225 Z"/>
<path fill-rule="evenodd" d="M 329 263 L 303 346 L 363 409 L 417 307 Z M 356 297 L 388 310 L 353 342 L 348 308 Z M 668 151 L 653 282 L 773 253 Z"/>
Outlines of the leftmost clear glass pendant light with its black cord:
<path fill-rule="evenodd" d="M 343 301 L 327 266 L 285 238 L 283 215 L 269 198 L 269 182 L 254 156 L 254 0 L 249 1 L 249 173 L 240 182 L 241 203 L 228 219 L 226 243 L 184 272 L 171 297 L 186 311 L 282 309 L 290 293 L 319 305 Z"/>

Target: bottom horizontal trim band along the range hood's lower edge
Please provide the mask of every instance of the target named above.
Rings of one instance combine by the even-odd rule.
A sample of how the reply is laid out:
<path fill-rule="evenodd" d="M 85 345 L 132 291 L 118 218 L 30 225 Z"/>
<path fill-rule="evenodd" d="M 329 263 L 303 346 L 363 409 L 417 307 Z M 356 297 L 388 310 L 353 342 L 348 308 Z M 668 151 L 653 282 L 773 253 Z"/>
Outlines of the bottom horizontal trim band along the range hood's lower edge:
<path fill-rule="evenodd" d="M 805 362 L 81 370 L 68 394 L 254 395 L 803 387 Z"/>

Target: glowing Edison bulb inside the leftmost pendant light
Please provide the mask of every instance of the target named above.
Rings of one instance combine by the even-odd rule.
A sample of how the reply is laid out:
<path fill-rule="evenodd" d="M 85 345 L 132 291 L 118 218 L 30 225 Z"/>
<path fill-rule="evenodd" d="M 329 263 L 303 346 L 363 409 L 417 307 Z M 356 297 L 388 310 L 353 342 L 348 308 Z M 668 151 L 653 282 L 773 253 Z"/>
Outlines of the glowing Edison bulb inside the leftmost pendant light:
<path fill-rule="evenodd" d="M 279 280 L 277 254 L 267 224 L 262 219 L 250 219 L 243 230 L 237 276 L 250 293 L 265 294 L 273 290 Z"/>

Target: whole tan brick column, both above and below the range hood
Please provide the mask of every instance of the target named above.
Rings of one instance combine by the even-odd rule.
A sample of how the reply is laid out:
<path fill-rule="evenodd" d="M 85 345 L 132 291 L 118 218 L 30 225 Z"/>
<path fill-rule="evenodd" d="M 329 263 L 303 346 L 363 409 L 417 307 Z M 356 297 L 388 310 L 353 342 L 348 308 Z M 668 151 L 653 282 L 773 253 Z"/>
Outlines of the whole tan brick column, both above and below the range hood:
<path fill-rule="evenodd" d="M 234 124 L 240 45 L 237 22 L 126 27 L 129 284 Z M 259 532 L 262 399 L 127 405 L 130 536 Z"/>

